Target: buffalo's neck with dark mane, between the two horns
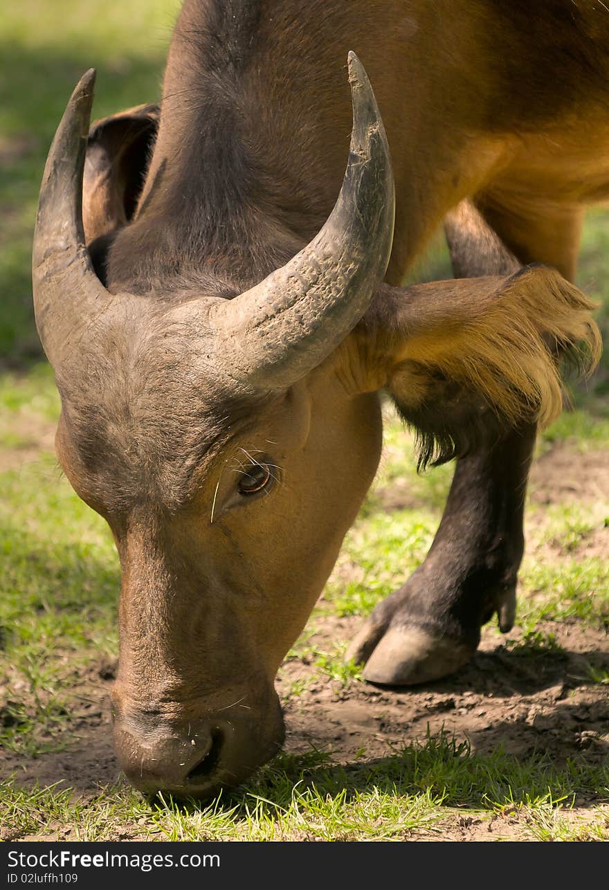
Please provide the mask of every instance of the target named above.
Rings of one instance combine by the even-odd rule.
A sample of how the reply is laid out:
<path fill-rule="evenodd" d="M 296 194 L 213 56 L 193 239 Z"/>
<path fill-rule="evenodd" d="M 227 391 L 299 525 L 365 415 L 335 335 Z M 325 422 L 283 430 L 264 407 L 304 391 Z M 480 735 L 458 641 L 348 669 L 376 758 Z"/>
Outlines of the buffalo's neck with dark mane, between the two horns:
<path fill-rule="evenodd" d="M 247 286 L 324 223 L 347 158 L 344 70 L 334 66 L 345 99 L 341 126 L 306 84 L 331 80 L 322 72 L 332 66 L 316 60 L 307 68 L 307 44 L 305 58 L 285 64 L 270 28 L 273 6 L 280 12 L 285 4 L 184 4 L 142 197 L 110 249 L 110 287 L 151 290 L 201 270 Z"/>

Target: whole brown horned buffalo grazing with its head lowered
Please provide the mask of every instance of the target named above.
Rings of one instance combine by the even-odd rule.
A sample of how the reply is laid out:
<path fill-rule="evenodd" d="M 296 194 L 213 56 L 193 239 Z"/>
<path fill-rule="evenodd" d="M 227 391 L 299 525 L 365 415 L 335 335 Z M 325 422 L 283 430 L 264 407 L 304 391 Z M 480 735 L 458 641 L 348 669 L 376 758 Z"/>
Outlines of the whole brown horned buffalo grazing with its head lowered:
<path fill-rule="evenodd" d="M 93 70 L 77 85 L 34 301 L 61 465 L 118 548 L 112 713 L 137 788 L 208 797 L 280 747 L 274 677 L 376 473 L 382 392 L 421 465 L 457 465 L 426 561 L 347 656 L 422 683 L 494 613 L 511 627 L 558 355 L 600 348 L 569 279 L 583 207 L 609 194 L 604 22 L 185 0 L 159 106 L 89 132 Z M 402 287 L 444 217 L 457 278 Z"/>

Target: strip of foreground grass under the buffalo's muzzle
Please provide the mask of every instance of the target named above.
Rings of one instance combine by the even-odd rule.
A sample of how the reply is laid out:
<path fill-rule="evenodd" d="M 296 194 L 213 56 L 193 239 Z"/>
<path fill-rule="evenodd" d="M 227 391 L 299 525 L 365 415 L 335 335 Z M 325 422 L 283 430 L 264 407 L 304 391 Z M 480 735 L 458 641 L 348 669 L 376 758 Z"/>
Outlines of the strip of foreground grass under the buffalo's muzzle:
<path fill-rule="evenodd" d="M 582 789 L 606 796 L 607 768 L 576 761 L 556 768 L 544 756 L 501 750 L 476 756 L 441 734 L 371 763 L 281 754 L 255 781 L 207 805 L 149 802 L 123 785 L 84 799 L 53 786 L 25 791 L 11 780 L 0 794 L 5 835 L 44 837 L 67 827 L 79 840 L 401 840 L 441 837 L 443 823 L 463 813 L 487 821 L 521 813 L 529 839 L 583 839 L 584 832 L 605 839 L 605 808 L 586 828 L 560 817 L 578 805 Z"/>

